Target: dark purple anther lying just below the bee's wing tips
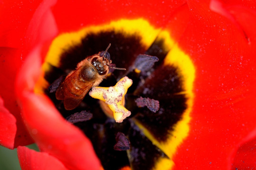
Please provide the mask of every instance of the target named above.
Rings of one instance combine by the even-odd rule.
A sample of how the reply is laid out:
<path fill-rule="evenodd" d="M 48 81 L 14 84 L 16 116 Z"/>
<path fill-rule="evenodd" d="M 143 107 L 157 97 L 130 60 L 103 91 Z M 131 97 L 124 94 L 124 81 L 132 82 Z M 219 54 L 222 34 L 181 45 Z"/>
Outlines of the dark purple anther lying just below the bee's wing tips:
<path fill-rule="evenodd" d="M 87 111 L 81 111 L 68 116 L 66 120 L 69 121 L 70 123 L 77 123 L 77 122 L 90 120 L 92 119 L 92 117 L 93 117 L 92 113 L 89 113 Z"/>

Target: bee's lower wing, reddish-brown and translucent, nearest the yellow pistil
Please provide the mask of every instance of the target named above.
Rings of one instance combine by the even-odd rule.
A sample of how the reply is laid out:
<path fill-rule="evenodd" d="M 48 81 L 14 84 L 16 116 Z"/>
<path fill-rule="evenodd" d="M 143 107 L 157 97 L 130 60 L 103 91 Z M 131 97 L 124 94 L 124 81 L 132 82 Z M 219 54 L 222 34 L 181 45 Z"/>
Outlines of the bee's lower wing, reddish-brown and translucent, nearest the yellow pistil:
<path fill-rule="evenodd" d="M 80 102 L 84 99 L 86 93 L 92 88 L 93 84 L 92 83 L 87 83 L 83 90 L 80 90 L 80 93 L 76 93 L 76 96 L 69 96 L 65 95 L 64 99 L 64 107 L 66 110 L 73 110 L 75 109 Z"/>

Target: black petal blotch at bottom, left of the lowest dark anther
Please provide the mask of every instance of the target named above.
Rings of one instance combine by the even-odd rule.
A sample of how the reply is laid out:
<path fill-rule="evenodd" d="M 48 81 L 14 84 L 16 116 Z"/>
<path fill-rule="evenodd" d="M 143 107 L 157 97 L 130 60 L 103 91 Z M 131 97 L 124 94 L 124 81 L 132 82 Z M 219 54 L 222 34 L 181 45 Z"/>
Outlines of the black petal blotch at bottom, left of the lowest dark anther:
<path fill-rule="evenodd" d="M 95 153 L 100 159 L 104 170 L 119 170 L 129 166 L 126 152 L 114 150 L 116 144 L 115 134 L 127 134 L 130 128 L 129 121 L 115 123 L 114 119 L 107 119 L 105 123 L 95 122 L 95 118 L 83 123 L 85 135 L 92 141 Z M 80 128 L 82 127 L 80 126 Z"/>

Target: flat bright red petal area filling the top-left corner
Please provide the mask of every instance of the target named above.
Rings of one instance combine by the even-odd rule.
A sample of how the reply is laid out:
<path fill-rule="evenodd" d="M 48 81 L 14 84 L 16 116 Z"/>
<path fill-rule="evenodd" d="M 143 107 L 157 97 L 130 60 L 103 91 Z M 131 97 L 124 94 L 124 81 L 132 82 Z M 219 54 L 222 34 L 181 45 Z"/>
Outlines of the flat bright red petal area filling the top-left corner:
<path fill-rule="evenodd" d="M 40 1 L 4 0 L 0 5 L 0 46 L 19 48 Z"/>

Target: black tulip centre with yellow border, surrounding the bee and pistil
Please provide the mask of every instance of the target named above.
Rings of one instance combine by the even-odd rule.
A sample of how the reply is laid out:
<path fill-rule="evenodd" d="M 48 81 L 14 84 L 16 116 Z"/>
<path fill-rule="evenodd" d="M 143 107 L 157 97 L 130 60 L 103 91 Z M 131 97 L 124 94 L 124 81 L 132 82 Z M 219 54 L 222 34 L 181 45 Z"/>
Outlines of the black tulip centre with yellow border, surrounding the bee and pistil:
<path fill-rule="evenodd" d="M 116 121 L 117 111 L 98 100 L 103 97 L 91 94 L 100 87 L 90 90 L 94 98 L 87 93 L 74 110 L 66 110 L 48 87 L 86 57 L 104 51 L 109 43 L 113 66 L 126 70 L 109 68 L 99 86 L 109 89 L 125 77 L 130 79 L 126 93 L 120 93 L 123 101 L 118 101 L 130 116 Z M 42 69 L 44 77 L 35 92 L 46 93 L 63 117 L 85 133 L 105 170 L 171 169 L 172 156 L 190 130 L 195 68 L 168 31 L 143 19 L 122 19 L 60 34 Z"/>

